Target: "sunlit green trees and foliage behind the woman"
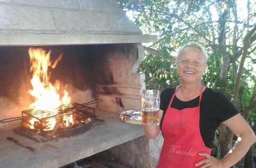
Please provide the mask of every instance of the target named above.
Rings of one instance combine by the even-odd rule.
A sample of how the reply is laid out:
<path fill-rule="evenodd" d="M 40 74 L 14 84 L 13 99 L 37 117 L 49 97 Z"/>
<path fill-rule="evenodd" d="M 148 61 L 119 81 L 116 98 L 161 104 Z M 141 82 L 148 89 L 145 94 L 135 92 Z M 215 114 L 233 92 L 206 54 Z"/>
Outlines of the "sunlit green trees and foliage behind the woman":
<path fill-rule="evenodd" d="M 154 44 L 144 47 L 147 54 L 139 69 L 146 75 L 148 89 L 176 86 L 175 50 L 197 41 L 210 56 L 203 76 L 205 85 L 224 92 L 255 126 L 256 19 L 252 1 L 248 0 L 242 11 L 246 17 L 236 0 L 116 1 L 123 9 L 133 11 L 134 21 L 144 34 L 158 35 Z M 233 134 L 224 125 L 218 130 L 223 156 L 231 147 Z"/>

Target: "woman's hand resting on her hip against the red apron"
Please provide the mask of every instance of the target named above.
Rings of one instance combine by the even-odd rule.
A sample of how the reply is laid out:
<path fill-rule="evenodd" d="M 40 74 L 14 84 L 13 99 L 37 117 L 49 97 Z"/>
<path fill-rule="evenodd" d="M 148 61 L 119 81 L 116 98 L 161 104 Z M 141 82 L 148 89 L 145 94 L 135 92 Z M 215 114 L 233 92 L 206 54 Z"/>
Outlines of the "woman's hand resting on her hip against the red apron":
<path fill-rule="evenodd" d="M 200 168 L 206 168 L 206 167 L 224 168 L 221 160 L 218 160 L 215 157 L 212 157 L 208 153 L 199 153 L 198 155 L 199 156 L 205 156 L 206 159 L 203 159 L 203 160 L 199 161 L 198 163 L 195 164 L 195 166 L 202 165 Z"/>

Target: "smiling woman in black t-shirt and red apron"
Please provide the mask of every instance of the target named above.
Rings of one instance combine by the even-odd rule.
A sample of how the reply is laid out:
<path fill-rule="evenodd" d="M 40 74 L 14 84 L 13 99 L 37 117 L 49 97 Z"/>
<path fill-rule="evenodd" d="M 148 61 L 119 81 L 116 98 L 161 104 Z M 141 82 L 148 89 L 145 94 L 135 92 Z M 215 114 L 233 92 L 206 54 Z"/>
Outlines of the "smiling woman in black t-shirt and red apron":
<path fill-rule="evenodd" d="M 143 125 L 155 138 L 161 129 L 164 143 L 157 167 L 230 167 L 255 142 L 255 135 L 232 103 L 220 92 L 201 84 L 208 54 L 196 42 L 184 45 L 176 64 L 180 86 L 165 89 L 160 97 L 160 126 Z M 215 131 L 224 123 L 239 138 L 221 160 L 212 157 Z"/>

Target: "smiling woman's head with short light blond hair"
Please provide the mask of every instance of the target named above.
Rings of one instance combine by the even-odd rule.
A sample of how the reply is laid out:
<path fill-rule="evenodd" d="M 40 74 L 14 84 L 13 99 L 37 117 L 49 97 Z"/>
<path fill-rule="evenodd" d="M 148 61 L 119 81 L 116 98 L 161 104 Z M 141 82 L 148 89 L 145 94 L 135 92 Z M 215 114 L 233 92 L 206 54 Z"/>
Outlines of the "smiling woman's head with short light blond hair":
<path fill-rule="evenodd" d="M 182 83 L 201 83 L 201 76 L 206 68 L 206 58 L 195 47 L 186 47 L 177 59 L 177 72 Z"/>

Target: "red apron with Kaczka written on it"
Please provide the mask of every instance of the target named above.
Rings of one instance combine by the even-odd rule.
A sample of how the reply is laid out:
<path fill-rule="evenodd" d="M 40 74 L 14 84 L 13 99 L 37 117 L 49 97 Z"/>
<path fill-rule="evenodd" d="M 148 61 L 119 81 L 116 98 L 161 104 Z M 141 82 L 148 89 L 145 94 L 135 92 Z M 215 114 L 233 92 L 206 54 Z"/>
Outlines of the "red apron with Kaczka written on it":
<path fill-rule="evenodd" d="M 199 105 L 181 110 L 170 107 L 178 90 L 179 88 L 170 100 L 163 119 L 161 130 L 164 142 L 158 168 L 196 167 L 195 164 L 197 162 L 205 159 L 204 156 L 199 156 L 198 153 L 211 153 L 211 149 L 204 145 L 199 128 L 200 102 L 203 88 L 200 91 Z"/>

